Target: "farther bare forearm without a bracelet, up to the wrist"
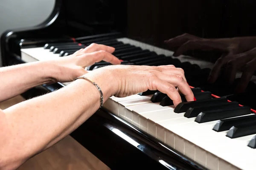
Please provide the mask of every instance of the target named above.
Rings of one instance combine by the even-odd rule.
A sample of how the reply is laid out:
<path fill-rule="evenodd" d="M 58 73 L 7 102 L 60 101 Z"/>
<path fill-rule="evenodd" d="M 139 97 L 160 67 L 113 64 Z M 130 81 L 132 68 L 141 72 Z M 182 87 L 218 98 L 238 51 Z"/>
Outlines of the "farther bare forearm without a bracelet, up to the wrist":
<path fill-rule="evenodd" d="M 56 68 L 44 62 L 31 62 L 0 68 L 0 101 L 10 99 L 37 85 L 51 82 Z"/>

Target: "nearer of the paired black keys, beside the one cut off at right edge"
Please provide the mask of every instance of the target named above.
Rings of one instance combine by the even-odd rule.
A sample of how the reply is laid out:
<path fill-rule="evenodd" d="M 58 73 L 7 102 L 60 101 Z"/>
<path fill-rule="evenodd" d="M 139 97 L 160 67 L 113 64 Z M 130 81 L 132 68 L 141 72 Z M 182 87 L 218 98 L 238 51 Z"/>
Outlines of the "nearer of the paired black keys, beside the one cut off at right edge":
<path fill-rule="evenodd" d="M 234 139 L 256 133 L 256 121 L 232 126 L 227 132 L 227 137 Z"/>

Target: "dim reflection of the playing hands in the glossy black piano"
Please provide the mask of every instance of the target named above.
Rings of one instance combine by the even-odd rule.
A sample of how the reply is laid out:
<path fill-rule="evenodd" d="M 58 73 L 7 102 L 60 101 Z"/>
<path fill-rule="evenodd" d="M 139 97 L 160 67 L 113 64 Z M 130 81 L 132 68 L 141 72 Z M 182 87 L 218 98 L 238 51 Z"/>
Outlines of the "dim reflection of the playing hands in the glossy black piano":
<path fill-rule="evenodd" d="M 243 92 L 246 89 L 255 71 L 253 67 L 256 62 L 254 58 L 256 53 L 254 42 L 256 42 L 256 37 L 206 39 L 191 34 L 182 34 L 165 41 L 167 48 L 175 51 L 173 54 L 175 57 L 195 49 L 220 51 L 222 55 L 215 62 L 208 81 L 209 83 L 214 83 L 221 72 L 224 72 L 227 82 L 232 84 L 236 77 L 236 72 L 243 71 L 241 81 L 237 87 L 239 92 Z M 224 69 L 222 70 L 222 68 Z"/>

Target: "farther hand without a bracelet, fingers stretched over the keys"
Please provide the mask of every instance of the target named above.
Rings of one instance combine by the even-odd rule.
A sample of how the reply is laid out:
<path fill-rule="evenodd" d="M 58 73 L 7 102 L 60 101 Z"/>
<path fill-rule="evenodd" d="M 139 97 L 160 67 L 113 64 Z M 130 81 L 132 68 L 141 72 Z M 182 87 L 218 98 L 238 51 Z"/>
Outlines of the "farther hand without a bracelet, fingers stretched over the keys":
<path fill-rule="evenodd" d="M 115 48 L 92 43 L 86 48 L 81 48 L 74 54 L 46 61 L 47 64 L 57 68 L 57 74 L 51 76 L 51 83 L 54 82 L 71 82 L 75 78 L 87 73 L 84 69 L 89 65 L 102 60 L 118 65 L 121 61 L 112 55 Z"/>

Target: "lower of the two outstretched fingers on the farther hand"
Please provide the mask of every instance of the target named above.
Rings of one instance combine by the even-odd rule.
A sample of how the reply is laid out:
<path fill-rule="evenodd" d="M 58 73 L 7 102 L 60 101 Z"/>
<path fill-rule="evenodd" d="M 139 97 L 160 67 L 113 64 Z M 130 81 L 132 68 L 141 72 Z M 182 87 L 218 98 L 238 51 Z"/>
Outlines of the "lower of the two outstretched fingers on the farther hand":
<path fill-rule="evenodd" d="M 93 65 L 95 62 L 100 62 L 102 60 L 105 62 L 110 62 L 113 65 L 121 64 L 121 61 L 118 58 L 106 51 L 96 51 L 93 53 L 84 54 L 81 57 L 81 60 L 84 60 L 84 62 L 81 61 L 81 63 L 86 63 L 86 66 Z"/>

